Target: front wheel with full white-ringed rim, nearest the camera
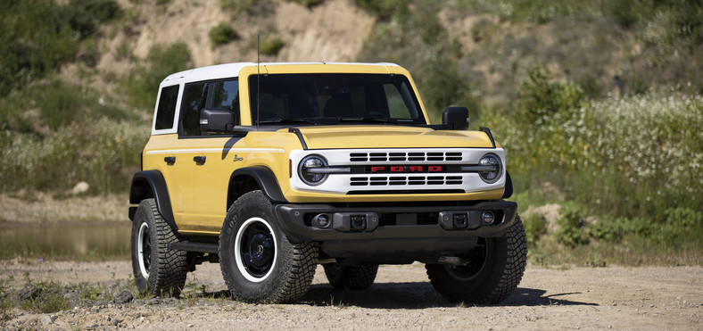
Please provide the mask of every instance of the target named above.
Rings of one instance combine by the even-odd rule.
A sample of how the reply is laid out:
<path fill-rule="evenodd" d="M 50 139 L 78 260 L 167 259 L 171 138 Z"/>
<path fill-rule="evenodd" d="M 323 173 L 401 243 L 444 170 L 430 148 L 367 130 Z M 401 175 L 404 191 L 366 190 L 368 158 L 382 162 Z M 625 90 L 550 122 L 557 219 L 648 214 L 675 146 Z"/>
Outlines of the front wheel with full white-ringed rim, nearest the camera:
<path fill-rule="evenodd" d="M 242 195 L 219 233 L 219 265 L 232 298 L 242 302 L 293 302 L 315 276 L 317 244 L 294 244 L 279 228 L 261 193 Z"/>

